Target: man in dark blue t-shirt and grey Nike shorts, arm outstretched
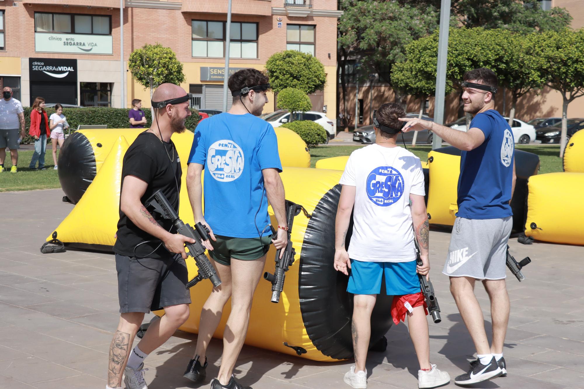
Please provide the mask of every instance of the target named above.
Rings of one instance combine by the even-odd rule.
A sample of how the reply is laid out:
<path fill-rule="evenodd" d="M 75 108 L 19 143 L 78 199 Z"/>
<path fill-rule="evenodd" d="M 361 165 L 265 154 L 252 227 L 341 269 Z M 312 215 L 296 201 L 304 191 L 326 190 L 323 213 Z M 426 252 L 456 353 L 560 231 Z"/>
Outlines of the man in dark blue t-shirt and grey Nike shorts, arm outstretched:
<path fill-rule="evenodd" d="M 408 122 L 404 132 L 428 129 L 462 150 L 458 213 L 443 270 L 450 276 L 450 291 L 477 349 L 470 370 L 454 379 L 461 385 L 507 374 L 503 342 L 510 304 L 505 262 L 513 215 L 509 203 L 515 189 L 515 144 L 511 127 L 494 109 L 497 85 L 497 77 L 489 69 L 464 74 L 464 112 L 474 116 L 467 132 L 426 120 L 400 119 Z M 482 281 L 491 299 L 491 347 L 474 295 L 476 280 Z"/>

